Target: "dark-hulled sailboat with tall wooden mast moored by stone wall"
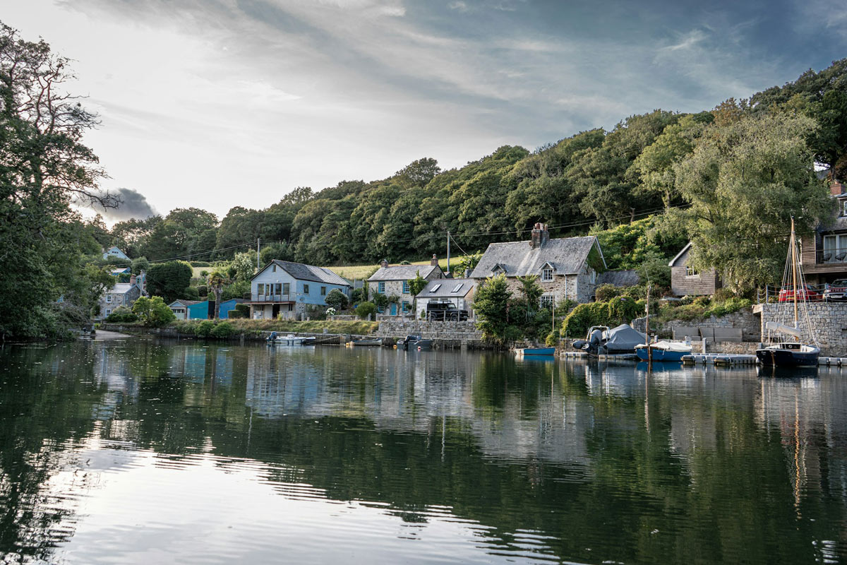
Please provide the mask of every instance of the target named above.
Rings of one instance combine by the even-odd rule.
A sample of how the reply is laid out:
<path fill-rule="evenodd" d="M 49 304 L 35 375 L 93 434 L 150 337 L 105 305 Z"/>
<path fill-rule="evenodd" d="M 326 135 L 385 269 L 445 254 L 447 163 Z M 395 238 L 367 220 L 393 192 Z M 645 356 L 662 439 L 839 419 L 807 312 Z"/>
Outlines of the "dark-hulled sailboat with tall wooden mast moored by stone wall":
<path fill-rule="evenodd" d="M 794 325 L 779 324 L 778 322 L 767 322 L 768 338 L 776 334 L 783 337 L 772 343 L 772 345 L 756 350 L 756 357 L 763 365 L 775 367 L 810 367 L 817 366 L 817 357 L 821 354 L 821 348 L 817 346 L 814 335 L 810 335 L 813 343 L 804 343 L 803 331 L 800 330 L 800 311 L 802 311 L 805 327 L 811 334 L 811 321 L 809 319 L 806 302 L 809 299 L 808 292 L 799 291 L 805 289 L 803 270 L 800 269 L 800 253 L 797 252 L 797 238 L 794 235 L 794 217 L 791 218 L 791 238 L 789 240 L 789 255 L 785 262 L 785 273 L 783 274 L 783 289 L 790 288 L 794 295 L 792 302 L 781 302 L 781 305 L 793 304 Z M 786 316 L 787 318 L 787 316 Z M 768 341 L 771 341 L 770 339 Z"/>

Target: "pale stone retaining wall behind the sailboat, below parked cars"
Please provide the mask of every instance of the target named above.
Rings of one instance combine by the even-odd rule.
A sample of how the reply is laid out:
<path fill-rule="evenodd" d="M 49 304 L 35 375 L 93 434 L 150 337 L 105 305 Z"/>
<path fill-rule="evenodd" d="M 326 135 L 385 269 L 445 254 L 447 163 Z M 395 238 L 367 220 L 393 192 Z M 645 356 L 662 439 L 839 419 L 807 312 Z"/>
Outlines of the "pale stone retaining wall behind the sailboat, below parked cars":
<path fill-rule="evenodd" d="M 823 351 L 844 352 L 847 349 L 847 303 L 817 302 L 806 305 L 811 322 L 809 324 L 800 310 L 800 330 L 805 340 L 811 335 L 817 338 L 817 343 Z M 794 326 L 794 308 L 790 303 L 761 305 L 761 335 L 767 339 L 767 322 L 777 322 Z"/>

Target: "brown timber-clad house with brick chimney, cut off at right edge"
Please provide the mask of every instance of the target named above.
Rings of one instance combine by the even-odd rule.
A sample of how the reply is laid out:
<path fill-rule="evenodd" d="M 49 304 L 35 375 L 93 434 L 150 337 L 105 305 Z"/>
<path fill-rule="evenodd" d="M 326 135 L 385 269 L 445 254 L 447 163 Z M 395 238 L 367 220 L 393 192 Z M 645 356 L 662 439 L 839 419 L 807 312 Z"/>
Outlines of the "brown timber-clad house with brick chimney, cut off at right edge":
<path fill-rule="evenodd" d="M 838 180 L 829 182 L 836 212 L 817 226 L 814 235 L 800 237 L 800 263 L 806 282 L 823 285 L 847 279 L 847 192 Z"/>

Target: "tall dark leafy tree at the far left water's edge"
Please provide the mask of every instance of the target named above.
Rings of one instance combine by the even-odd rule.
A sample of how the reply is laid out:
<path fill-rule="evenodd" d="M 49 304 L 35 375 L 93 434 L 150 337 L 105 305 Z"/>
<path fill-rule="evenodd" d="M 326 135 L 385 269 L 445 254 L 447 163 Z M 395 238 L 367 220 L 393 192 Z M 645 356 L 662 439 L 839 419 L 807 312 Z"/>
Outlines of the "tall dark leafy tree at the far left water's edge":
<path fill-rule="evenodd" d="M 63 333 L 71 297 L 91 291 L 82 254 L 99 247 L 69 204 L 119 203 L 98 190 L 82 144 L 97 116 L 63 91 L 72 78 L 69 59 L 0 23 L 0 335 Z"/>

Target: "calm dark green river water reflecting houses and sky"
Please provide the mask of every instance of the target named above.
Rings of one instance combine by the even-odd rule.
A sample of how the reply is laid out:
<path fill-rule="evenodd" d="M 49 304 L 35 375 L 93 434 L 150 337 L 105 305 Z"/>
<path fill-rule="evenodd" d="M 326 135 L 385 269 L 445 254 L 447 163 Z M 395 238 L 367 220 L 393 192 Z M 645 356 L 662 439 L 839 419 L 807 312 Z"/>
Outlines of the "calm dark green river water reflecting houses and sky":
<path fill-rule="evenodd" d="M 844 562 L 845 378 L 7 346 L 0 562 Z"/>

